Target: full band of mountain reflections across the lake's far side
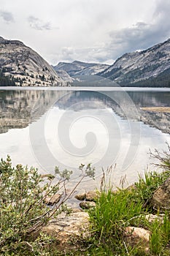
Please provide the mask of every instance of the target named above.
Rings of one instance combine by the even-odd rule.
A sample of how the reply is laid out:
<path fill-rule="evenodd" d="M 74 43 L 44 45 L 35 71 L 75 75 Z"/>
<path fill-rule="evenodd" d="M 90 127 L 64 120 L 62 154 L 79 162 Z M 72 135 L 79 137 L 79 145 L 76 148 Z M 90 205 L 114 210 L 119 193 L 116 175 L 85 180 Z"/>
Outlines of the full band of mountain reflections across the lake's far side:
<path fill-rule="evenodd" d="M 129 98 L 136 106 L 132 110 Z M 83 108 L 112 108 L 122 118 L 143 121 L 151 127 L 170 133 L 169 113 L 143 111 L 141 107 L 169 107 L 170 92 L 166 91 L 0 91 L 0 133 L 9 129 L 27 127 L 47 110 L 58 106 L 63 110 L 75 105 L 74 111 Z M 95 107 L 84 102 L 96 102 Z M 79 105 L 77 105 L 79 103 Z"/>

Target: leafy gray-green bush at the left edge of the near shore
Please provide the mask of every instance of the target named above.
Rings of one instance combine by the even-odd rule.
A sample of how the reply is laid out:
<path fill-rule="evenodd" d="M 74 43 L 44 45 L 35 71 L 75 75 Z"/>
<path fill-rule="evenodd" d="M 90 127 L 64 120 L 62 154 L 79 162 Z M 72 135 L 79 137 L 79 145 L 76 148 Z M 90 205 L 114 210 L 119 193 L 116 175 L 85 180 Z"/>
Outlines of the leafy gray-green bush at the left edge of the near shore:
<path fill-rule="evenodd" d="M 20 247 L 31 249 L 31 233 L 47 223 L 52 209 L 45 205 L 45 197 L 58 191 L 50 182 L 42 185 L 37 170 L 22 165 L 12 167 L 7 157 L 0 162 L 0 252 L 17 254 Z"/>

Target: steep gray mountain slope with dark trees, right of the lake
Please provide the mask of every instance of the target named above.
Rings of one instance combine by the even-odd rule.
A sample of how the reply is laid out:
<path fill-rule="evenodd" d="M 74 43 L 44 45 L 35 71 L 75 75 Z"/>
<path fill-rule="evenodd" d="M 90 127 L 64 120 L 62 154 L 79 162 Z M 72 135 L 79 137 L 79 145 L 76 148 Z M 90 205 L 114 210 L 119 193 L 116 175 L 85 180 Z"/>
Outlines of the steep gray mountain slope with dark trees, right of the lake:
<path fill-rule="evenodd" d="M 120 86 L 170 86 L 170 39 L 147 50 L 125 53 L 99 72 Z"/>

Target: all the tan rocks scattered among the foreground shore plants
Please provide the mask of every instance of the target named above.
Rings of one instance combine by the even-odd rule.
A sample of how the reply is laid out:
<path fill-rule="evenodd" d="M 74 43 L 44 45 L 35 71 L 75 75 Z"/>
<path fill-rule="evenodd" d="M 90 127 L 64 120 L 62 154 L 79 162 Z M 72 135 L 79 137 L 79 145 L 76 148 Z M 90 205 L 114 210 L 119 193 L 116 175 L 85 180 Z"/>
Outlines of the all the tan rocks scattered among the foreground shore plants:
<path fill-rule="evenodd" d="M 135 189 L 135 186 L 128 187 L 128 190 Z M 116 191 L 113 191 L 116 193 Z M 80 201 L 80 208 L 73 208 L 69 215 L 61 214 L 57 218 L 42 228 L 42 232 L 52 235 L 58 241 L 58 248 L 61 251 L 78 249 L 82 241 L 88 240 L 90 233 L 90 218 L 87 209 L 96 206 L 96 200 L 100 196 L 97 190 L 84 192 L 75 195 Z M 58 195 L 55 195 L 56 201 L 52 198 L 50 204 L 58 202 Z M 158 189 L 155 190 L 150 203 L 153 208 L 159 209 L 159 214 L 145 214 L 144 219 L 152 223 L 157 219 L 163 222 L 164 212 L 170 209 L 170 178 L 168 178 Z M 128 241 L 132 247 L 140 244 L 145 253 L 150 252 L 151 232 L 143 227 L 128 226 L 124 231 L 125 241 Z"/>

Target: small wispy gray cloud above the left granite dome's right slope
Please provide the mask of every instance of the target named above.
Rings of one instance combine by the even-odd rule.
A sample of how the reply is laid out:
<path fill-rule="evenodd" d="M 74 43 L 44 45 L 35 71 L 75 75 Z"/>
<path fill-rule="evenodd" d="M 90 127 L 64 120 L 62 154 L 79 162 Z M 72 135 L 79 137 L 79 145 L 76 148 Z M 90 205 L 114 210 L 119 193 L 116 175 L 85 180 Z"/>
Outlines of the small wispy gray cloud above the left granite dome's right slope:
<path fill-rule="evenodd" d="M 52 29 L 50 22 L 45 23 L 44 21 L 42 21 L 39 18 L 36 18 L 34 16 L 28 17 L 28 23 L 32 29 L 36 29 L 36 30 L 51 30 Z"/>

